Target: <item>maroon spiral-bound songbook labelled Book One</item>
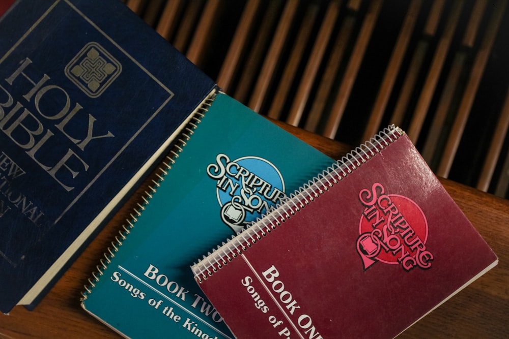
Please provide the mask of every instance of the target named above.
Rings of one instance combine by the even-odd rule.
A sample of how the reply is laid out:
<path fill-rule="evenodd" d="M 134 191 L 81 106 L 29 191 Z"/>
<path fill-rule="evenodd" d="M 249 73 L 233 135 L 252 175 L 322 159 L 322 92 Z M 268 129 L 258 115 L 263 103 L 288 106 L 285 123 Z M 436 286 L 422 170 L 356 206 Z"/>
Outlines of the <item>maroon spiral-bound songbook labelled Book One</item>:
<path fill-rule="evenodd" d="M 192 270 L 238 338 L 391 338 L 497 262 L 389 127 Z"/>

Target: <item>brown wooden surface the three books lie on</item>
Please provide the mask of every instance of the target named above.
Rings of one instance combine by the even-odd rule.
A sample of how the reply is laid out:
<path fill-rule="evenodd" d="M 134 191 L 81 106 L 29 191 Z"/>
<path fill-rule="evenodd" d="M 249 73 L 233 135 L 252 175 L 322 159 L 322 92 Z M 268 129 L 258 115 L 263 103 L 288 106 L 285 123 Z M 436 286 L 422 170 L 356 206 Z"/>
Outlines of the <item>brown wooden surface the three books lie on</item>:
<path fill-rule="evenodd" d="M 332 140 L 280 125 L 335 159 L 349 149 Z M 446 179 L 441 182 L 498 255 L 499 264 L 399 338 L 509 338 L 509 201 Z M 0 338 L 118 337 L 81 310 L 79 299 L 83 285 L 87 284 L 91 272 L 96 271 L 100 258 L 141 194 L 142 190 L 138 190 L 133 195 L 34 311 L 16 306 L 10 315 L 0 315 Z"/>

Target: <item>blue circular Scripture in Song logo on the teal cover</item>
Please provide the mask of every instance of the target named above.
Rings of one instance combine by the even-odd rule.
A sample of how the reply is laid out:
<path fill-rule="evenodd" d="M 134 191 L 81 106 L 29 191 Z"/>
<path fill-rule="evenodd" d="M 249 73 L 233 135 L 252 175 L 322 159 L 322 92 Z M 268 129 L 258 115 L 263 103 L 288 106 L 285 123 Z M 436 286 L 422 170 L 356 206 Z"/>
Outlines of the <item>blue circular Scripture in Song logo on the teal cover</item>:
<path fill-rule="evenodd" d="M 219 154 L 207 166 L 207 174 L 217 180 L 217 200 L 221 220 L 235 232 L 266 213 L 286 197 L 285 182 L 279 170 L 259 157 L 230 160 Z"/>

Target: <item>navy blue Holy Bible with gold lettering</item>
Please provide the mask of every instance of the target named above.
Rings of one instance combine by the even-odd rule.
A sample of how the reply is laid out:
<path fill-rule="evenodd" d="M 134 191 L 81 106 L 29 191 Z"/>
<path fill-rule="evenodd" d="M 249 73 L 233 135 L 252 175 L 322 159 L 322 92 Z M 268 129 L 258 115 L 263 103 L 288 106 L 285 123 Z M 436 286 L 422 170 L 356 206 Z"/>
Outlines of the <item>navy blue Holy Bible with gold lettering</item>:
<path fill-rule="evenodd" d="M 0 18 L 0 311 L 35 304 L 215 90 L 117 0 Z"/>

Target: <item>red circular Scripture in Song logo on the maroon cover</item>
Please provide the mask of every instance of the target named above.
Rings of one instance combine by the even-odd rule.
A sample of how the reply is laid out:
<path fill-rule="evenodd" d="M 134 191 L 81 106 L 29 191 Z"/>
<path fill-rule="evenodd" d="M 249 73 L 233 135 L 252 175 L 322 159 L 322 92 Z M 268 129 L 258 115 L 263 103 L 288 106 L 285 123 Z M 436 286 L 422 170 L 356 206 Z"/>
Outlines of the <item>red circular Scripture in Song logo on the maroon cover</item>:
<path fill-rule="evenodd" d="M 426 248 L 428 221 L 413 200 L 386 193 L 378 182 L 361 190 L 359 200 L 364 211 L 357 252 L 364 270 L 377 262 L 401 265 L 406 271 L 431 268 L 433 254 Z"/>

